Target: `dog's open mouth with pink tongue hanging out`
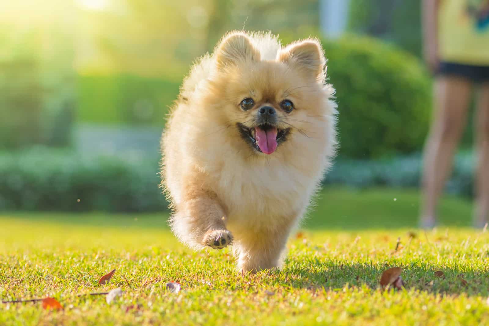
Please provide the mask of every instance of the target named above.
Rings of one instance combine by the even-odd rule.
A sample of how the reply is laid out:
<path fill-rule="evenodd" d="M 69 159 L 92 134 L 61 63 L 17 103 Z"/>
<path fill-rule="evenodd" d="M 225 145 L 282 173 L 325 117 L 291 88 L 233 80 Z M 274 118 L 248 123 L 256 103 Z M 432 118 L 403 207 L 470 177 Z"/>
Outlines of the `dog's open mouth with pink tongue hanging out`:
<path fill-rule="evenodd" d="M 277 146 L 287 140 L 290 128 L 279 129 L 271 124 L 261 124 L 254 127 L 246 127 L 243 123 L 237 123 L 241 138 L 244 139 L 256 151 L 270 155 L 275 152 Z"/>

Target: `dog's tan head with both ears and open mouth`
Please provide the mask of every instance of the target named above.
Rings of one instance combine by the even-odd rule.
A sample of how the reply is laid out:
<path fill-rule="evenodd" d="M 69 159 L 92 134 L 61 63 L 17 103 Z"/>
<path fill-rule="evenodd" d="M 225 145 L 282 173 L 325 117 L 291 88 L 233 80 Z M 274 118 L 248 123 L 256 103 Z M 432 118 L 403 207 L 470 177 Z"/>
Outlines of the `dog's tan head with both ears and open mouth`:
<path fill-rule="evenodd" d="M 261 60 L 244 34 L 217 48 L 218 72 L 209 95 L 216 121 L 252 153 L 271 155 L 294 137 L 314 138 L 323 112 L 325 59 L 318 42 L 297 42 Z M 263 154 L 262 154 L 263 153 Z"/>

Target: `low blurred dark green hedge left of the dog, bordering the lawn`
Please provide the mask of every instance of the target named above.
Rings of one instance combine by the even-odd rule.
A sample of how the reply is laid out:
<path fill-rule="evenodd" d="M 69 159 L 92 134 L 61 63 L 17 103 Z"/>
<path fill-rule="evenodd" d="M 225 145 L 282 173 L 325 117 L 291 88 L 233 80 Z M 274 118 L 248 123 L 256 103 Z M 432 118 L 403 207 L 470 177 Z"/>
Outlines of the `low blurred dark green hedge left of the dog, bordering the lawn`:
<path fill-rule="evenodd" d="M 0 210 L 160 211 L 166 202 L 157 173 L 158 159 L 46 147 L 0 153 Z"/>

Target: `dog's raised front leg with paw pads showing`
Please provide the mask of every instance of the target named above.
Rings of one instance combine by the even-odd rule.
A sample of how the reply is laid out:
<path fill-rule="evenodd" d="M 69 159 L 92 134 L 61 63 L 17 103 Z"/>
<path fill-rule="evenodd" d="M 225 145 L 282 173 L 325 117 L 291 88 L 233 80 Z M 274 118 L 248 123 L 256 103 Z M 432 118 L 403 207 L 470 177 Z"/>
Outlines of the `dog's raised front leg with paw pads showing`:
<path fill-rule="evenodd" d="M 226 229 L 225 211 L 217 196 L 199 190 L 178 205 L 172 217 L 173 231 L 183 242 L 192 246 L 222 249 L 230 245 L 233 235 Z"/>

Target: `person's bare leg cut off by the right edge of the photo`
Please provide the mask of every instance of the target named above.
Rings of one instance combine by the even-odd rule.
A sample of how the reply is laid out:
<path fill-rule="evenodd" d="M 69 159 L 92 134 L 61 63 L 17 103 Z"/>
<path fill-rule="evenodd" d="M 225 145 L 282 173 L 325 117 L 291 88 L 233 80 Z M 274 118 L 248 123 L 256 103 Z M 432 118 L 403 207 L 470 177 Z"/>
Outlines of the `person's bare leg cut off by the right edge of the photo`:
<path fill-rule="evenodd" d="M 477 197 L 474 224 L 483 227 L 489 215 L 489 82 L 481 85 L 477 100 L 477 171 L 474 178 Z"/>

